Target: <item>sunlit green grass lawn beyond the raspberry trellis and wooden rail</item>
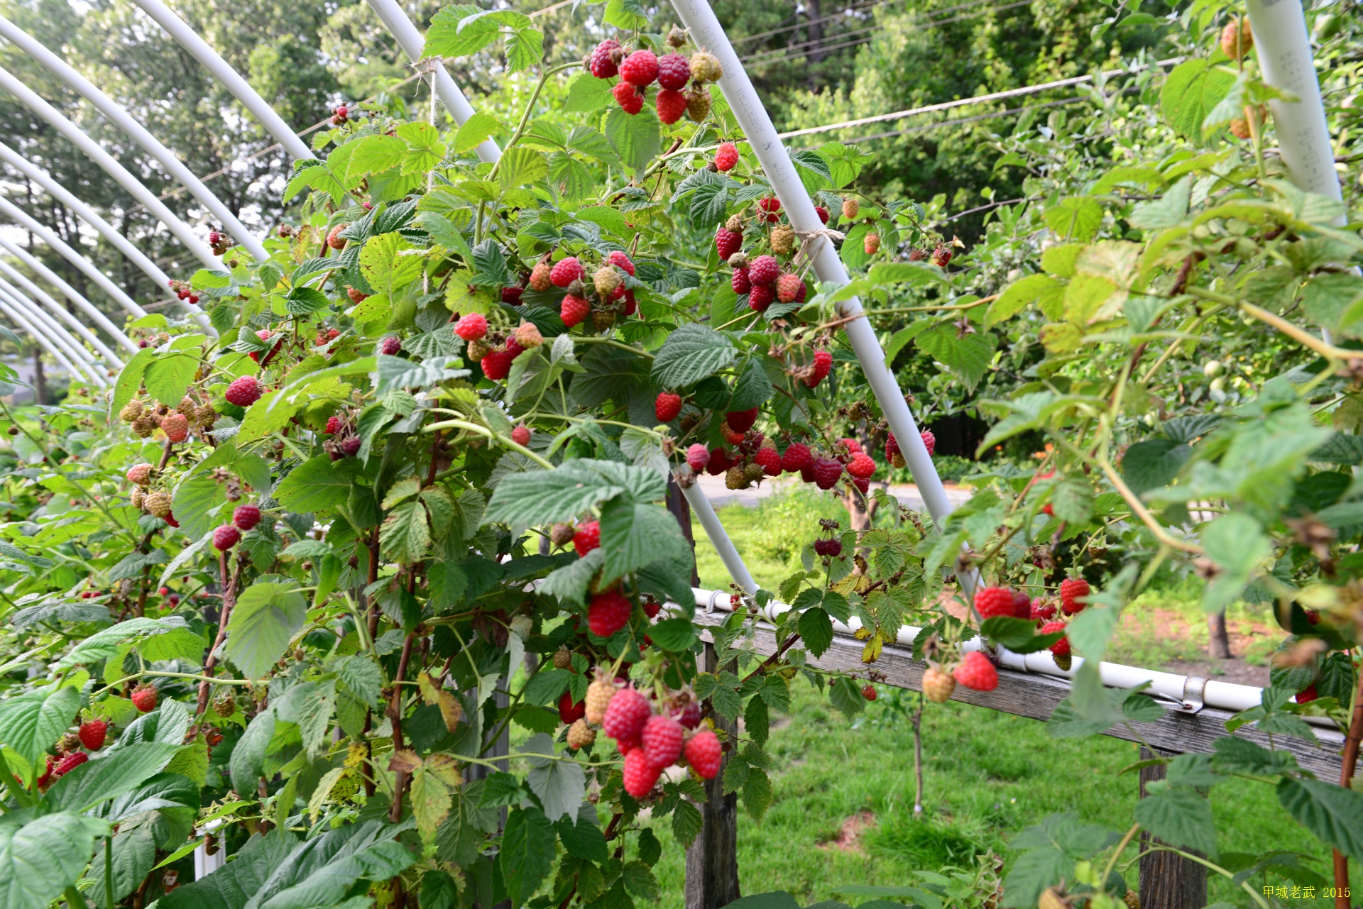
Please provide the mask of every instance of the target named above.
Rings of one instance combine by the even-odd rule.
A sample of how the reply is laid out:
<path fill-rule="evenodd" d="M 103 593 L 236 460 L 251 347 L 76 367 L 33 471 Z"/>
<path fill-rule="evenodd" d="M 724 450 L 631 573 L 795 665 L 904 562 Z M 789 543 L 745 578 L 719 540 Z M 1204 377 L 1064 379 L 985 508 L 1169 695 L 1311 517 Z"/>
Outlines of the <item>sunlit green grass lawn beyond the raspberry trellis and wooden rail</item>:
<path fill-rule="evenodd" d="M 786 560 L 815 534 L 819 517 L 841 518 L 836 502 L 797 491 L 758 508 L 731 506 L 720 518 L 767 589 Z M 696 564 L 705 587 L 728 576 L 696 527 Z M 1186 612 L 1195 600 L 1175 591 L 1159 604 Z M 1153 608 L 1150 602 L 1135 609 Z M 1234 616 L 1232 616 L 1234 619 Z M 1186 646 L 1186 645 L 1179 645 Z M 1157 635 L 1133 642 L 1133 657 L 1165 654 Z M 1137 801 L 1137 745 L 1116 739 L 1051 739 L 1044 724 L 960 703 L 928 705 L 924 713 L 925 812 L 913 816 L 913 733 L 883 690 L 867 713 L 848 721 L 808 684 L 793 685 L 792 713 L 773 725 L 769 748 L 774 800 L 762 822 L 739 822 L 743 893 L 786 890 L 801 905 L 830 898 L 840 886 L 910 883 L 915 872 L 943 865 L 975 868 L 994 850 L 1011 859 L 1009 839 L 1044 816 L 1073 811 L 1084 820 L 1124 830 Z M 1278 807 L 1270 786 L 1232 781 L 1216 788 L 1212 807 L 1224 852 L 1293 849 L 1329 874 L 1329 853 Z M 660 831 L 667 841 L 667 834 Z M 1130 852 L 1134 856 L 1134 849 Z M 664 909 L 683 904 L 684 861 L 665 850 L 657 867 Z M 1135 867 L 1127 880 L 1134 886 Z M 1262 882 L 1259 882 L 1262 883 Z M 1214 879 L 1212 902 L 1244 904 L 1244 893 Z M 1313 905 L 1293 899 L 1293 905 Z M 1318 899 L 1318 905 L 1329 905 Z"/>

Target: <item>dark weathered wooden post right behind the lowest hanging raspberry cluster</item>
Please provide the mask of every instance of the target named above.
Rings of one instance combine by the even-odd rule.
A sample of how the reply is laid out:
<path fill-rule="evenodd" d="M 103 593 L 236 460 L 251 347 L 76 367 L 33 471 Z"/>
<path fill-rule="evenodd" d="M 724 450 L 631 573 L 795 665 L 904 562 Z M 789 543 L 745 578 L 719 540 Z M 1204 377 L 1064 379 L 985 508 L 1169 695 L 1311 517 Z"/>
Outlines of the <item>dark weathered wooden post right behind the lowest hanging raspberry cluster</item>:
<path fill-rule="evenodd" d="M 680 497 L 680 496 L 679 496 Z M 686 503 L 683 503 L 686 504 Z M 705 645 L 705 672 L 717 672 L 714 645 Z M 717 713 L 716 729 L 731 736 L 737 724 Z M 741 894 L 739 891 L 739 793 L 724 795 L 724 767 L 714 780 L 705 782 L 705 804 L 701 805 L 701 834 L 686 850 L 686 909 L 720 909 Z"/>

